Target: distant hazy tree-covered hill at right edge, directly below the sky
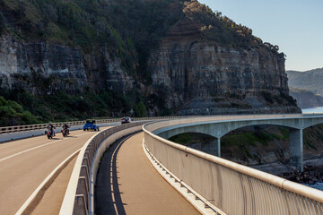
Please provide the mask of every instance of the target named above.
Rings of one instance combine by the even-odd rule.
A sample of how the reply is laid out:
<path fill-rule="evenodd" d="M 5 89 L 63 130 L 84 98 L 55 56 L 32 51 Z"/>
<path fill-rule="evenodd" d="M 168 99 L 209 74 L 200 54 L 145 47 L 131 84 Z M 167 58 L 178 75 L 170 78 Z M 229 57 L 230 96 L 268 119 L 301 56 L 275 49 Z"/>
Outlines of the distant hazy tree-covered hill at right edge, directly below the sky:
<path fill-rule="evenodd" d="M 323 68 L 306 72 L 286 71 L 288 85 L 293 88 L 310 90 L 314 94 L 323 96 Z"/>

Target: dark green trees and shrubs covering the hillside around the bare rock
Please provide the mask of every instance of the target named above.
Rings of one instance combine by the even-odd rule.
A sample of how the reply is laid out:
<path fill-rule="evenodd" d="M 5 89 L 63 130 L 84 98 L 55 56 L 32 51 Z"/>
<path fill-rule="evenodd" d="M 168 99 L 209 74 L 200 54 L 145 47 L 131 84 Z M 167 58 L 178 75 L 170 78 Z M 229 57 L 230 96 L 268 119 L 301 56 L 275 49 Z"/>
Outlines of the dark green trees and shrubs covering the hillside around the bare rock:
<path fill-rule="evenodd" d="M 103 48 L 108 49 L 111 57 L 121 59 L 122 69 L 135 82 L 145 85 L 151 84 L 151 72 L 146 65 L 151 52 L 183 21 L 197 27 L 200 40 L 214 41 L 223 47 L 265 48 L 284 60 L 277 46 L 263 43 L 246 26 L 220 12 L 214 13 L 196 0 L 0 0 L 1 36 L 21 42 L 45 41 L 80 47 L 83 53 L 96 56 L 102 55 Z M 50 83 L 45 84 L 44 89 Z M 0 95 L 16 101 L 37 116 L 38 122 L 122 114 L 145 116 L 148 108 L 155 107 L 161 115 L 172 113 L 164 106 L 162 90 L 156 90 L 160 92 L 159 98 L 148 102 L 137 90 L 117 93 L 89 87 L 85 94 L 57 91 L 49 96 L 40 88 L 38 94 L 31 94 L 17 87 L 1 89 Z M 2 125 L 32 121 L 15 118 Z"/>

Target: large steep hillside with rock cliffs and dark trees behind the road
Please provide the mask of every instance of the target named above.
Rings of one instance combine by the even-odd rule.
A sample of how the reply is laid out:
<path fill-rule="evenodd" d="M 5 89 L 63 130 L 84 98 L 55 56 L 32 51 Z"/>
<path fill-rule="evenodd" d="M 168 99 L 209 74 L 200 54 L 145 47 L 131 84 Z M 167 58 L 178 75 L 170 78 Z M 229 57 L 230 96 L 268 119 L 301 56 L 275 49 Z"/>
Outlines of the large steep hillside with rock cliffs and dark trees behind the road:
<path fill-rule="evenodd" d="M 0 96 L 40 122 L 300 112 L 279 47 L 195 0 L 0 0 L 0 33 Z"/>

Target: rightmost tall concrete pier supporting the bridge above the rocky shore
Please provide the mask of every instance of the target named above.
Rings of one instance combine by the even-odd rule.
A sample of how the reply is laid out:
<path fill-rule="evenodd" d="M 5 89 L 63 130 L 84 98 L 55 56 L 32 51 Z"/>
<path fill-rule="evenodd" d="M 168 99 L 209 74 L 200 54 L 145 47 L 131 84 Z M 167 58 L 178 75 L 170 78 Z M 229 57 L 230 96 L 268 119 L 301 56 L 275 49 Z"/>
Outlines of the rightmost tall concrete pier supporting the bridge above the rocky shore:
<path fill-rule="evenodd" d="M 302 129 L 290 129 L 290 164 L 299 171 L 303 171 L 303 140 Z"/>

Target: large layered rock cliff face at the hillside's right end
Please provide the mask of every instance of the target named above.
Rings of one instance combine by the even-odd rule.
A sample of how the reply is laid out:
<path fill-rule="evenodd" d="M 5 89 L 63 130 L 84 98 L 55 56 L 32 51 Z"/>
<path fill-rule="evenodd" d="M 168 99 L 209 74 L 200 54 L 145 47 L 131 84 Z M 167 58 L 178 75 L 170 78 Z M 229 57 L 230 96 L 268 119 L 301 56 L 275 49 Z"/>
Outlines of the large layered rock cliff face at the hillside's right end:
<path fill-rule="evenodd" d="M 292 113 L 284 57 L 260 48 L 219 46 L 197 24 L 180 22 L 149 60 L 153 85 L 168 89 L 179 114 Z M 264 95 L 267 98 L 264 98 Z"/>

